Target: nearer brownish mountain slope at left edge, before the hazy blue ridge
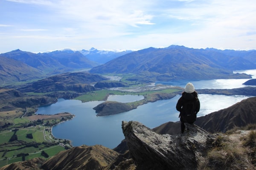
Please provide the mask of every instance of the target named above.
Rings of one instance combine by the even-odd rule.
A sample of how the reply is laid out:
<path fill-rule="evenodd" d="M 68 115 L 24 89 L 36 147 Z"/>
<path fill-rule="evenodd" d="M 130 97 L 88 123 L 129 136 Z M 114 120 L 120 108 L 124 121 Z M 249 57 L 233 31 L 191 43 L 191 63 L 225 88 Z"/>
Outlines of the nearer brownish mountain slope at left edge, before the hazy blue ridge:
<path fill-rule="evenodd" d="M 9 82 L 35 79 L 42 76 L 42 72 L 24 62 L 0 56 L 0 85 Z"/>

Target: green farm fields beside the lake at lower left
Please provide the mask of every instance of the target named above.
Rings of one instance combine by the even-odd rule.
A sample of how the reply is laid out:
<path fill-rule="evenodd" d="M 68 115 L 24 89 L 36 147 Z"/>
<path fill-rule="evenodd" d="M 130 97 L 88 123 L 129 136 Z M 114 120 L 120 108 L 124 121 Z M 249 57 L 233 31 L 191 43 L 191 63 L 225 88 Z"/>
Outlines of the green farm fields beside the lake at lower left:
<path fill-rule="evenodd" d="M 33 118 L 36 118 L 35 115 Z M 38 115 L 40 116 L 40 115 Z M 55 119 L 55 123 L 61 122 L 61 118 L 70 116 L 69 113 L 48 116 L 47 119 Z M 20 125 L 25 125 L 31 122 L 28 117 L 15 118 L 15 122 Z M 36 121 L 37 122 L 37 121 Z M 47 122 L 47 121 L 46 121 Z M 51 121 L 53 122 L 53 121 Z M 12 126 L 15 127 L 15 126 Z M 4 130 L 0 132 L 0 167 L 6 164 L 22 161 L 22 156 L 17 156 L 21 153 L 29 154 L 25 156 L 25 160 L 41 157 L 41 152 L 44 150 L 49 157 L 56 155 L 61 150 L 65 150 L 64 146 L 59 143 L 67 142 L 62 139 L 55 139 L 51 133 L 51 127 L 44 125 L 35 125 L 26 128 L 16 128 L 15 130 Z M 28 138 L 27 134 L 32 134 L 32 139 Z M 16 135 L 17 140 L 10 142 L 12 136 Z M 24 159 L 24 158 L 23 158 Z"/>

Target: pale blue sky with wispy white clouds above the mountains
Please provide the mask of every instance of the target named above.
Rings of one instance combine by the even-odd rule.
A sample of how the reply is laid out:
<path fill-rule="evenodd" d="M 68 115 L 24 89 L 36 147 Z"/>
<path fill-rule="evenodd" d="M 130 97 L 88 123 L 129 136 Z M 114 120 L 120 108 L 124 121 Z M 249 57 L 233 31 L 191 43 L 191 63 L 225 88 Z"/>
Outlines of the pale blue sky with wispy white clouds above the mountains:
<path fill-rule="evenodd" d="M 256 0 L 0 0 L 0 53 L 256 49 Z"/>

